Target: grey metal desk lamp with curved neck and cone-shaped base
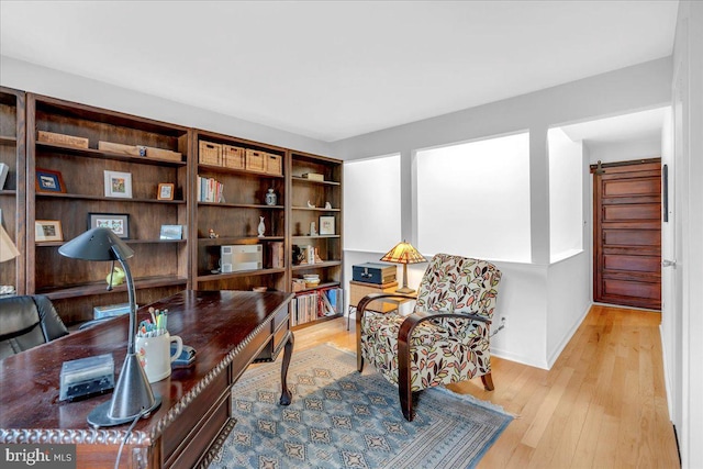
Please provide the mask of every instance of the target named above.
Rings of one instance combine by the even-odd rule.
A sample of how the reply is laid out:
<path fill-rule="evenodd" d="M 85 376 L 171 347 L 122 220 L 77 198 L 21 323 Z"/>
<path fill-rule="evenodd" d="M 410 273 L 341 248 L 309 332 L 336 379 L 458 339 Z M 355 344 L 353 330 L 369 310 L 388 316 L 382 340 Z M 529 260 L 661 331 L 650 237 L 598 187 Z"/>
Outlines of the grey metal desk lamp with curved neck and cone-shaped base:
<path fill-rule="evenodd" d="M 134 250 L 109 228 L 92 228 L 75 237 L 58 248 L 62 256 L 83 260 L 118 260 L 127 279 L 130 298 L 130 340 L 127 356 L 124 359 L 112 400 L 98 405 L 88 415 L 88 423 L 99 426 L 113 426 L 131 422 L 140 415 L 148 415 L 161 404 L 161 398 L 152 391 L 144 368 L 135 353 L 136 302 L 132 272 L 125 259 L 134 256 Z"/>

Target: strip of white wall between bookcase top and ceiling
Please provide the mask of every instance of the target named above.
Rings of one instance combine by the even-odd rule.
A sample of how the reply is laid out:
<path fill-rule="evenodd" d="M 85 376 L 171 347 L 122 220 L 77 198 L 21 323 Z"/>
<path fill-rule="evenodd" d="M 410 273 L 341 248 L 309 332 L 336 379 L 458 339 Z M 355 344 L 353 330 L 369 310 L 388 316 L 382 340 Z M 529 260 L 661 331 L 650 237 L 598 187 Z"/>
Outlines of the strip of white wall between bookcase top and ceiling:
<path fill-rule="evenodd" d="M 120 88 L 0 56 L 0 85 L 67 101 L 104 108 L 157 121 L 203 129 L 286 148 L 330 155 L 330 145 L 290 132 L 255 124 L 200 108 Z"/>

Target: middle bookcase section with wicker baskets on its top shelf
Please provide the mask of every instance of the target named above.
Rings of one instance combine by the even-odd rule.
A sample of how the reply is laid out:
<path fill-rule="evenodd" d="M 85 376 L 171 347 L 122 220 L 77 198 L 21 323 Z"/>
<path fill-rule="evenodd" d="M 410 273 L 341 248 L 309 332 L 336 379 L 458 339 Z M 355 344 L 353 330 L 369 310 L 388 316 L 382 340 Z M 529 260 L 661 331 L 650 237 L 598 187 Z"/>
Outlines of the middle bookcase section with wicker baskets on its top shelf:
<path fill-rule="evenodd" d="M 197 202 L 193 203 L 196 210 L 190 230 L 191 239 L 197 239 L 192 244 L 196 287 L 203 290 L 266 288 L 287 291 L 288 266 L 282 256 L 288 237 L 287 150 L 207 131 L 194 132 L 193 152 L 196 149 L 198 160 L 193 163 L 196 181 L 191 200 Z M 219 200 L 203 201 L 208 198 L 201 191 L 208 180 L 221 185 Z M 267 203 L 269 189 L 274 190 L 275 203 Z M 261 217 L 264 234 L 259 235 Z M 211 233 L 216 237 L 211 237 Z M 263 255 L 259 267 L 242 270 L 235 265 L 233 271 L 223 269 L 222 246 L 256 245 L 260 246 Z"/>

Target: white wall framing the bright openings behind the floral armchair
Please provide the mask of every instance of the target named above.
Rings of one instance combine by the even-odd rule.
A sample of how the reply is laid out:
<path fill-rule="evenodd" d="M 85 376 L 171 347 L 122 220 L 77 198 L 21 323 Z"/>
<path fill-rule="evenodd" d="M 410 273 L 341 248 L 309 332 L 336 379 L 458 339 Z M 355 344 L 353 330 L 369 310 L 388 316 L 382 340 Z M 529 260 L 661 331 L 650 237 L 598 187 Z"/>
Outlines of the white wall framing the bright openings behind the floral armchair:
<path fill-rule="evenodd" d="M 561 344 L 578 326 L 591 297 L 590 249 L 550 266 L 549 235 L 549 127 L 666 105 L 670 101 L 671 59 L 662 58 L 534 93 L 414 122 L 332 144 L 343 159 L 401 154 L 402 234 L 415 242 L 413 213 L 413 156 L 429 148 L 487 136 L 529 131 L 531 146 L 531 250 L 532 263 L 496 263 L 505 288 L 499 310 L 510 325 L 493 340 L 495 355 L 548 368 Z M 584 171 L 585 168 L 584 168 Z M 583 180 L 583 213 L 590 200 Z M 587 234 L 590 220 L 583 226 Z M 588 238 L 588 234 L 584 235 Z M 383 253 L 380 253 L 381 255 Z M 379 255 L 380 257 L 380 255 Z M 347 269 L 360 257 L 345 252 Z M 491 259 L 489 259 L 491 260 Z M 352 263 L 349 263 L 352 261 Z M 364 260 L 366 261 L 366 260 Z M 422 275 L 422 272 L 420 272 Z M 346 272 L 350 278 L 350 271 Z M 411 273 L 419 281 L 417 273 Z M 576 279 L 577 281 L 563 281 Z M 576 299 L 576 300 L 574 300 Z M 584 300 L 585 299 L 585 300 Z M 587 304 L 583 304 L 583 303 Z M 555 322 L 549 325 L 548 322 Z"/>

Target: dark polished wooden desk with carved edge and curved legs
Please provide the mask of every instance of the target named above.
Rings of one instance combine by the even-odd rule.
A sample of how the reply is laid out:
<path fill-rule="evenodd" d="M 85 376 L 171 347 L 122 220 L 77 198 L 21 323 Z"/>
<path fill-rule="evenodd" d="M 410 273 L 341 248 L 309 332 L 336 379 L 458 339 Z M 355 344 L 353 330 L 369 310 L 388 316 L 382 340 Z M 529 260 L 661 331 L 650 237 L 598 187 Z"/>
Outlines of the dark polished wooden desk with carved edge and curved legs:
<path fill-rule="evenodd" d="M 235 422 L 232 384 L 261 351 L 284 348 L 281 403 L 290 403 L 286 383 L 293 346 L 288 331 L 291 293 L 185 291 L 152 305 L 168 309 L 168 330 L 198 355 L 190 368 L 176 369 L 152 384 L 160 407 L 141 420 L 122 451 L 121 468 L 192 468 L 209 464 Z M 148 317 L 147 306 L 137 321 Z M 112 354 L 115 370 L 126 355 L 129 316 L 0 361 L 0 443 L 76 444 L 79 468 L 112 468 L 129 424 L 91 428 L 86 417 L 112 394 L 80 402 L 58 400 L 62 364 Z M 272 353 L 272 357 L 269 357 Z"/>

